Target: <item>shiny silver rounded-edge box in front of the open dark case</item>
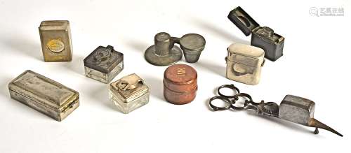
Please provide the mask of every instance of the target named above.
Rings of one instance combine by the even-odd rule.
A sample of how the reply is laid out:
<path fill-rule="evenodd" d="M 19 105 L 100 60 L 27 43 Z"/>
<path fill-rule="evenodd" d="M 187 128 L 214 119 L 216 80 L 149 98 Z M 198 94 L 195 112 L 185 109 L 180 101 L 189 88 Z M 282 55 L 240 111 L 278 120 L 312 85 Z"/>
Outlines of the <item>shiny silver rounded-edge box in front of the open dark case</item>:
<path fill-rule="evenodd" d="M 247 85 L 257 85 L 265 52 L 261 48 L 241 43 L 233 43 L 227 52 L 227 78 Z"/>

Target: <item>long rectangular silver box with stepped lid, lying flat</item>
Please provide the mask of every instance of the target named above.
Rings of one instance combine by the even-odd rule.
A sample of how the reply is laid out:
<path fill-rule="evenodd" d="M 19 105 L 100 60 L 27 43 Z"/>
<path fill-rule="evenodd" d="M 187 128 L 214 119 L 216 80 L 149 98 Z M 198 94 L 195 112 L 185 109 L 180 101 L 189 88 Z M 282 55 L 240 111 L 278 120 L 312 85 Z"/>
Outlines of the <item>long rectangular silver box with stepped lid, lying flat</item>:
<path fill-rule="evenodd" d="M 12 99 L 61 121 L 79 106 L 79 93 L 27 70 L 8 84 Z"/>

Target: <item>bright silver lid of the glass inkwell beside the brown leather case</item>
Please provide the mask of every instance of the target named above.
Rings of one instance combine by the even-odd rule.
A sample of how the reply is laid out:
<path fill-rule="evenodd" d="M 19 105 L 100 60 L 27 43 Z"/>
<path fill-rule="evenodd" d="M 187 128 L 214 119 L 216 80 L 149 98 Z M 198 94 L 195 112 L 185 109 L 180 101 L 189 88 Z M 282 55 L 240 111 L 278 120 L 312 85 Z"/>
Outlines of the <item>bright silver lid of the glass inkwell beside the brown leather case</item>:
<path fill-rule="evenodd" d="M 135 73 L 126 75 L 116 82 L 112 82 L 110 88 L 123 97 L 126 100 L 125 102 L 133 101 L 133 99 L 147 93 L 149 89 L 144 84 L 144 80 Z"/>

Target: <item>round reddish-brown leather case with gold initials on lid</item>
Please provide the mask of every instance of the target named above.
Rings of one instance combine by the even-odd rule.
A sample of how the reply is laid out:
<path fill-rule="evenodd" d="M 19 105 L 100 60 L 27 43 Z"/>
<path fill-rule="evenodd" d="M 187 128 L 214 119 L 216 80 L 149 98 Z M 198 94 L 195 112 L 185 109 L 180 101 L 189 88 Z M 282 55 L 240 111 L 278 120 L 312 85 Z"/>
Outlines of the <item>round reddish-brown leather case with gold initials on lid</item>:
<path fill-rule="evenodd" d="M 164 98 L 169 103 L 183 105 L 195 99 L 197 71 L 185 64 L 174 64 L 164 71 Z"/>

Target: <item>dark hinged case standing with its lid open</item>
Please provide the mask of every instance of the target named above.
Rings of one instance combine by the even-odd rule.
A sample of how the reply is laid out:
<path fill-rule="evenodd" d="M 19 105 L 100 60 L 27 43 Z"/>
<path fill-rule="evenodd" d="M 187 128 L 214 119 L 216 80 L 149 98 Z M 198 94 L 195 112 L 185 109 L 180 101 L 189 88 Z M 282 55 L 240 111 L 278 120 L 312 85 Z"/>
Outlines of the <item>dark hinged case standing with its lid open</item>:
<path fill-rule="evenodd" d="M 230 11 L 228 18 L 246 36 L 251 36 L 251 45 L 265 50 L 265 57 L 271 61 L 276 61 L 283 56 L 285 38 L 275 34 L 269 27 L 260 27 L 253 18 L 240 6 Z"/>

